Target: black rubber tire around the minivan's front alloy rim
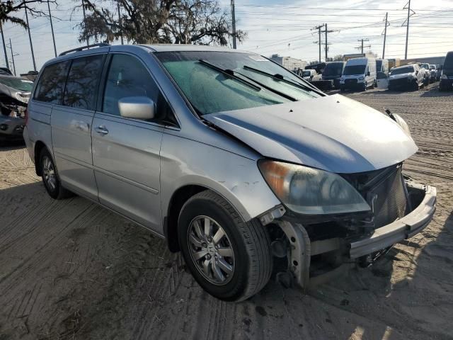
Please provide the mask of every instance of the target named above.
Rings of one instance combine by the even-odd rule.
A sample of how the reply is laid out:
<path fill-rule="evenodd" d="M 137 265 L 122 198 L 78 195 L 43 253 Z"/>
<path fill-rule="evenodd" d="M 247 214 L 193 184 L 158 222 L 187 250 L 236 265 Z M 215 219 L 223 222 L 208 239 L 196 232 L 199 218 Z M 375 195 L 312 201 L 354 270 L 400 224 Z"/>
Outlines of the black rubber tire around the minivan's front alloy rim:
<path fill-rule="evenodd" d="M 209 217 L 222 227 L 226 234 L 226 238 L 223 239 L 226 239 L 234 253 L 234 262 L 231 261 L 231 258 L 229 259 L 230 264 L 233 263 L 234 271 L 231 276 L 224 273 L 225 283 L 215 284 L 211 282 L 212 278 L 210 280 L 207 278 L 207 274 L 202 273 L 201 262 L 217 261 L 213 260 L 212 256 L 203 256 L 198 262 L 193 259 L 195 251 L 209 249 L 213 244 L 206 246 L 206 242 L 203 242 L 204 248 L 200 246 L 199 249 L 194 249 L 193 244 L 190 245 L 191 242 L 188 241 L 189 235 L 192 235 L 189 231 L 193 230 L 193 222 L 197 218 L 205 217 Z M 243 222 L 236 210 L 224 198 L 210 190 L 197 193 L 181 209 L 178 219 L 178 242 L 185 263 L 197 283 L 207 293 L 220 300 L 246 300 L 258 293 L 268 283 L 272 273 L 273 257 L 270 252 L 268 231 L 258 220 Z M 207 242 L 214 242 L 214 238 L 208 238 Z M 215 267 L 214 264 L 207 266 L 207 271 L 212 276 L 214 276 L 213 267 Z"/>

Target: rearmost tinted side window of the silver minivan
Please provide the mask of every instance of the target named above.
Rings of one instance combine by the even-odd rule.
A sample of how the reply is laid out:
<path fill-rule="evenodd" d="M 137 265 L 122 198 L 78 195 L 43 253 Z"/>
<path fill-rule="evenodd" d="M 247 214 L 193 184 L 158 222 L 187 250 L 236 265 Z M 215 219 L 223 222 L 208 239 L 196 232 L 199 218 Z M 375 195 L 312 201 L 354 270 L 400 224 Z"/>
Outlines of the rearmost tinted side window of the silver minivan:
<path fill-rule="evenodd" d="M 45 67 L 36 85 L 35 96 L 33 97 L 35 100 L 55 104 L 62 102 L 69 63 L 69 61 L 57 62 Z"/>

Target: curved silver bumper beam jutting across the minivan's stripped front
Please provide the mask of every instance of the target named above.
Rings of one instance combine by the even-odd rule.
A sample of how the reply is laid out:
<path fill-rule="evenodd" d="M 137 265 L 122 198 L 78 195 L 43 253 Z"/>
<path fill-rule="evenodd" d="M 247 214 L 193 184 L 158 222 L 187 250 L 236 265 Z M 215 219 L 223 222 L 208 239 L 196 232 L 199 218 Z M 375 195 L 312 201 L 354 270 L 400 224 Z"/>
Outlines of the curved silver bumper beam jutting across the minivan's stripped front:
<path fill-rule="evenodd" d="M 372 254 L 403 239 L 413 237 L 422 231 L 432 220 L 436 211 L 436 188 L 432 186 L 408 186 L 411 193 L 424 191 L 425 195 L 420 205 L 408 215 L 384 227 L 375 229 L 373 234 L 363 239 L 358 239 L 350 244 L 349 256 L 357 259 L 360 256 Z M 416 192 L 414 195 L 417 194 Z M 419 195 L 421 193 L 418 193 Z"/>

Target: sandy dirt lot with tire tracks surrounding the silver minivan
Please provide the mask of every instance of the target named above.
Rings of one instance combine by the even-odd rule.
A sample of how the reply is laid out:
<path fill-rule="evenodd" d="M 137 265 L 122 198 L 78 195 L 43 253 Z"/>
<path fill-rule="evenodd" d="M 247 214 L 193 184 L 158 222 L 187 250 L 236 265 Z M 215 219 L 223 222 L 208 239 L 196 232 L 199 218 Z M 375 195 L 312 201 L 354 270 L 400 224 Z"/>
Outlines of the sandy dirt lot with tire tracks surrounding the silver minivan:
<path fill-rule="evenodd" d="M 453 94 L 348 94 L 401 113 L 437 186 L 435 220 L 372 268 L 303 295 L 274 280 L 221 302 L 163 240 L 84 198 L 50 199 L 23 146 L 0 148 L 0 339 L 453 339 Z"/>

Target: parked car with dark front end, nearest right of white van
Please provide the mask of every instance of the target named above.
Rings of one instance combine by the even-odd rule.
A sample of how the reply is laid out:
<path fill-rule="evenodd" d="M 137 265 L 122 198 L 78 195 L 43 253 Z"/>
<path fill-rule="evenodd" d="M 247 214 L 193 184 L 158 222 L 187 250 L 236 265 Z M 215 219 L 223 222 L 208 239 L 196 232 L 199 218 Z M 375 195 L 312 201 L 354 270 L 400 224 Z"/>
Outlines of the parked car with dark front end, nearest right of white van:
<path fill-rule="evenodd" d="M 424 73 L 420 72 L 418 64 L 407 64 L 391 69 L 389 77 L 389 90 L 415 90 L 423 86 Z"/>

